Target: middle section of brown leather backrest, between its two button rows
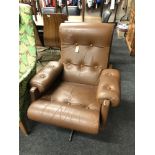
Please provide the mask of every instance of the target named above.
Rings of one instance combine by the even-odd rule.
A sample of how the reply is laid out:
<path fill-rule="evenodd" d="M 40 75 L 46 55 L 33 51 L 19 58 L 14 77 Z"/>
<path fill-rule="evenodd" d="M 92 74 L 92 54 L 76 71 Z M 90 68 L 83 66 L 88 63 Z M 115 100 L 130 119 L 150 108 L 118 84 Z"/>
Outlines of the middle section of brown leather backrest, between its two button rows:
<path fill-rule="evenodd" d="M 79 45 L 79 51 L 75 52 L 76 46 L 61 46 L 61 62 L 75 65 L 86 65 L 90 67 L 102 66 L 107 68 L 109 47 L 96 47 Z"/>

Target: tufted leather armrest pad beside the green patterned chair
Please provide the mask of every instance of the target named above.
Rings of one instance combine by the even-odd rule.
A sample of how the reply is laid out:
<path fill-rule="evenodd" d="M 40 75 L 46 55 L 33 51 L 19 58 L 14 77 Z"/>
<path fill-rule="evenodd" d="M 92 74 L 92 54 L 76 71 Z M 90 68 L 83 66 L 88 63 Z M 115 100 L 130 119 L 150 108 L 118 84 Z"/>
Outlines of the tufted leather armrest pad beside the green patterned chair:
<path fill-rule="evenodd" d="M 63 64 L 58 61 L 49 62 L 30 81 L 32 87 L 37 87 L 42 93 L 51 86 L 52 82 L 63 70 Z"/>

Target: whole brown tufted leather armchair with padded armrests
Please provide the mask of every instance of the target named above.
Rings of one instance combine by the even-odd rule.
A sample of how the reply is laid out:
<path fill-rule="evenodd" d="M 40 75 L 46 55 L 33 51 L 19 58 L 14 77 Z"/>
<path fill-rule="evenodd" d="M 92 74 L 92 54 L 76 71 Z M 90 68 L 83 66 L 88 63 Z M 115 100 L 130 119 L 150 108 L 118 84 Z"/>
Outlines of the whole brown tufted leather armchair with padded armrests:
<path fill-rule="evenodd" d="M 114 24 L 63 23 L 61 59 L 31 80 L 28 118 L 97 134 L 120 103 L 120 72 L 108 69 Z"/>

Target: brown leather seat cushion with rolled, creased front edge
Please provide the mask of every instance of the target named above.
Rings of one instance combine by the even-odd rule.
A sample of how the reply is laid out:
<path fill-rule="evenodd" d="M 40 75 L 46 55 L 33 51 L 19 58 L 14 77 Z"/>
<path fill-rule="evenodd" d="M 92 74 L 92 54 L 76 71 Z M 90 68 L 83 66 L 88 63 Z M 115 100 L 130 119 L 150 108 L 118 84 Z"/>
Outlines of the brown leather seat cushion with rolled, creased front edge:
<path fill-rule="evenodd" d="M 98 133 L 99 114 L 96 87 L 71 82 L 57 84 L 28 109 L 32 120 L 92 134 Z"/>

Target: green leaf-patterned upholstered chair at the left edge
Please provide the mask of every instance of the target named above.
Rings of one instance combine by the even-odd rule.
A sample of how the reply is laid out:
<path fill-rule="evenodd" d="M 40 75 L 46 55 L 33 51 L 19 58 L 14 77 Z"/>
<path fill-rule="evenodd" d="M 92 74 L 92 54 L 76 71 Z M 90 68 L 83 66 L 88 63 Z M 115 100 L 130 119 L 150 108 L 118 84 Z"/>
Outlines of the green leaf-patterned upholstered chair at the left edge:
<path fill-rule="evenodd" d="M 29 80 L 36 73 L 36 47 L 31 6 L 19 5 L 19 126 L 27 134 L 26 112 L 30 104 Z"/>

